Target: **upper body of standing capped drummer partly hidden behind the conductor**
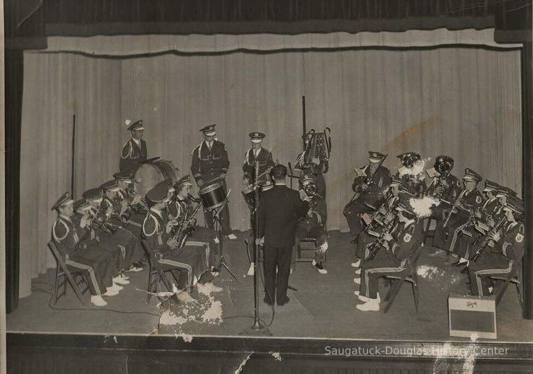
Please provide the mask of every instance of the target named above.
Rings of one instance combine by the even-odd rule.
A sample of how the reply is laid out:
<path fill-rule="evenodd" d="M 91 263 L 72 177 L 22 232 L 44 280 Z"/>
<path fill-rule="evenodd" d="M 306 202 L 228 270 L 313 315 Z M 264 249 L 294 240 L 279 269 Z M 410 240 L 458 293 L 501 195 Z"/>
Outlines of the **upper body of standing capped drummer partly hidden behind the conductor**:
<path fill-rule="evenodd" d="M 253 185 L 255 182 L 262 184 L 270 180 L 270 173 L 268 172 L 274 166 L 272 160 L 272 153 L 262 147 L 264 137 L 263 133 L 250 133 L 250 140 L 252 148 L 246 151 L 244 155 L 244 163 L 242 164 L 242 171 L 244 172 L 244 182 L 246 185 Z M 259 180 L 255 179 L 255 162 L 259 162 Z"/>

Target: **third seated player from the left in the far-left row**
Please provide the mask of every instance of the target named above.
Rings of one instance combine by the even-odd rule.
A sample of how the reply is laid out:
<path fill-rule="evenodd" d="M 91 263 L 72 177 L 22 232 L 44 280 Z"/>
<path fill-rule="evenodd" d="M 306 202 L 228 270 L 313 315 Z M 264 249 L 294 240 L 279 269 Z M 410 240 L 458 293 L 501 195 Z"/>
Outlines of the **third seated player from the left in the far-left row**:
<path fill-rule="evenodd" d="M 114 192 L 110 192 L 110 190 L 114 189 L 115 187 L 112 187 L 111 184 L 105 184 L 105 198 L 103 187 L 88 189 L 83 192 L 83 198 L 91 205 L 92 221 L 94 226 L 97 226 L 96 235 L 100 239 L 105 239 L 111 246 L 121 246 L 126 251 L 119 270 L 142 271 L 142 265 L 139 264 L 143 257 L 141 241 L 132 232 L 111 222 L 114 211 L 111 199 Z"/>

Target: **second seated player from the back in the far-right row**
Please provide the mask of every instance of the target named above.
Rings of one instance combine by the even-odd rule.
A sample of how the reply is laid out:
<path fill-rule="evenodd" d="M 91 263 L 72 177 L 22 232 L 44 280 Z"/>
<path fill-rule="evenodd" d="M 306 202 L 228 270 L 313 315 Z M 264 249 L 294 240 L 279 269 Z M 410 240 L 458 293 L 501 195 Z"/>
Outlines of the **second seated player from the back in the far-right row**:
<path fill-rule="evenodd" d="M 473 253 L 473 246 L 477 244 L 487 232 L 494 227 L 495 214 L 500 207 L 498 184 L 491 180 L 485 180 L 482 191 L 485 200 L 468 224 L 455 229 L 450 251 L 457 253 L 460 259 L 469 260 Z M 462 271 L 466 273 L 466 269 Z"/>

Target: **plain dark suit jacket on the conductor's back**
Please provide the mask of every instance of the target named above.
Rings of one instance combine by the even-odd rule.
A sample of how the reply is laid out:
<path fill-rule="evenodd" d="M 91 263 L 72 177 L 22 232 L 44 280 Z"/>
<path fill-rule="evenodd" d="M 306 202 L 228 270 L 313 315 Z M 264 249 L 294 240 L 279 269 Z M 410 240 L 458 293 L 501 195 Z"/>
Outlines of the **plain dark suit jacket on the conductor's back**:
<path fill-rule="evenodd" d="M 309 203 L 301 201 L 294 189 L 275 185 L 262 192 L 258 211 L 259 237 L 264 237 L 265 247 L 291 247 L 300 217 L 309 210 Z"/>

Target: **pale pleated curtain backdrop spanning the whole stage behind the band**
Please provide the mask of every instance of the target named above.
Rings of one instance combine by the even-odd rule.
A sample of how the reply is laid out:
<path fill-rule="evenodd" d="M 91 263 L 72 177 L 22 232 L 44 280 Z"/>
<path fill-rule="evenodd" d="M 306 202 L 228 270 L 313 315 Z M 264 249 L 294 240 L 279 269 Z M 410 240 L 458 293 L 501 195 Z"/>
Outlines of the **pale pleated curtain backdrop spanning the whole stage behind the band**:
<path fill-rule="evenodd" d="M 50 207 L 70 183 L 71 115 L 78 114 L 76 198 L 118 169 L 129 137 L 124 120 L 144 119 L 149 157 L 190 173 L 198 128 L 217 124 L 230 158 L 235 229 L 248 228 L 241 196 L 248 133 L 267 134 L 273 158 L 301 151 L 301 96 L 307 128 L 332 129 L 328 228 L 346 228 L 353 168 L 367 151 L 425 158 L 446 154 L 454 173 L 471 167 L 521 192 L 521 87 L 517 50 L 477 47 L 164 54 L 103 59 L 26 53 L 21 162 L 21 296 L 46 268 Z M 199 222 L 202 222 L 200 220 Z M 333 250 L 335 250 L 333 248 Z M 334 252 L 332 255 L 335 255 Z"/>

